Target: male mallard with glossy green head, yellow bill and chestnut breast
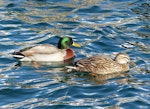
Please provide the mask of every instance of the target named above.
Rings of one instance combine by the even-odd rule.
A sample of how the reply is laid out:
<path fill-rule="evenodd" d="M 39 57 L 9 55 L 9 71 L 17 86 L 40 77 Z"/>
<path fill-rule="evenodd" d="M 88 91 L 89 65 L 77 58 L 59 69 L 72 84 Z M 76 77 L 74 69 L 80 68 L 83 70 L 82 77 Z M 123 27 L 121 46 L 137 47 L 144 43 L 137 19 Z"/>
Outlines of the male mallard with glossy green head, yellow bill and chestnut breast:
<path fill-rule="evenodd" d="M 25 48 L 13 53 L 13 57 L 20 61 L 46 61 L 58 62 L 65 61 L 74 57 L 74 52 L 69 46 L 80 47 L 73 42 L 70 37 L 62 37 L 58 42 L 58 47 L 51 44 L 40 44 Z"/>

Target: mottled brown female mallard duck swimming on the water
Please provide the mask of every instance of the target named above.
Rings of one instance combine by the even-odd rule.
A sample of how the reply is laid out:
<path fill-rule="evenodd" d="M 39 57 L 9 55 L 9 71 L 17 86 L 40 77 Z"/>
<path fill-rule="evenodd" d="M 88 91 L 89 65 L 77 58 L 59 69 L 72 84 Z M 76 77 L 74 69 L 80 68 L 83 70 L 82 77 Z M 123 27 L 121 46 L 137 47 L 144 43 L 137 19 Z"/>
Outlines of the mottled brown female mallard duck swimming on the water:
<path fill-rule="evenodd" d="M 129 70 L 129 61 L 129 56 L 124 53 L 117 54 L 114 60 L 106 56 L 93 56 L 78 60 L 75 66 L 67 66 L 67 69 L 95 74 L 126 72 Z"/>

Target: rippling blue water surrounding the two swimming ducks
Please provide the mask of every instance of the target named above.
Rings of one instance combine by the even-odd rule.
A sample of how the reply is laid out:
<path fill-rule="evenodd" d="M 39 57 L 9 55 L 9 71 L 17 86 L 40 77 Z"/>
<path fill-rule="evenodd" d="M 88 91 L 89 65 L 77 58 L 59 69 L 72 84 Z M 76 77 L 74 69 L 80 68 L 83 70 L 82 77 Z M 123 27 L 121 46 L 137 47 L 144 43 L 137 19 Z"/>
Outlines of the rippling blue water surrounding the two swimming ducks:
<path fill-rule="evenodd" d="M 14 51 L 57 45 L 70 36 L 82 45 L 75 60 L 126 52 L 136 66 L 125 74 L 66 73 L 65 64 L 18 63 Z M 1 0 L 1 109 L 149 109 L 149 0 Z"/>

